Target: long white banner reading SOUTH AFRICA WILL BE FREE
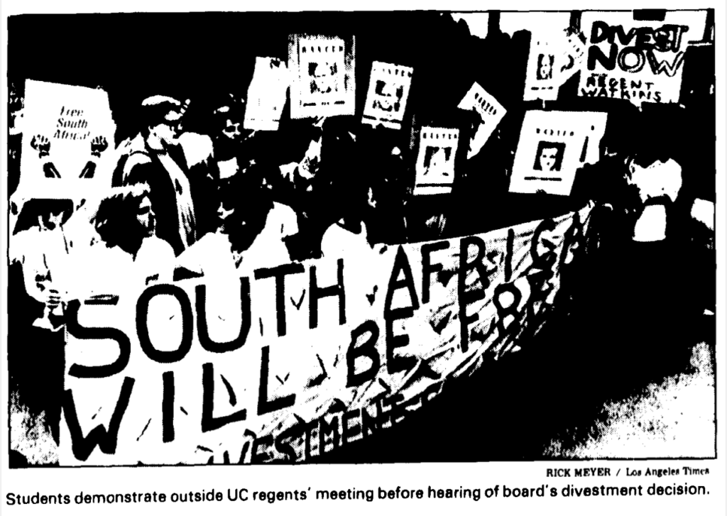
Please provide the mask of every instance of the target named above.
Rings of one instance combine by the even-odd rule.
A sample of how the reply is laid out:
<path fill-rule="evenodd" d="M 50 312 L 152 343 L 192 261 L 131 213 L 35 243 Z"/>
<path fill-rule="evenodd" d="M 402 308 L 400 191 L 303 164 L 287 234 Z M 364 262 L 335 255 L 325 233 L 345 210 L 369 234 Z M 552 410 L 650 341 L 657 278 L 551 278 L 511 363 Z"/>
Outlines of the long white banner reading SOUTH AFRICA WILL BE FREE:
<path fill-rule="evenodd" d="M 589 213 L 72 303 L 60 464 L 310 461 L 366 439 L 542 326 Z"/>

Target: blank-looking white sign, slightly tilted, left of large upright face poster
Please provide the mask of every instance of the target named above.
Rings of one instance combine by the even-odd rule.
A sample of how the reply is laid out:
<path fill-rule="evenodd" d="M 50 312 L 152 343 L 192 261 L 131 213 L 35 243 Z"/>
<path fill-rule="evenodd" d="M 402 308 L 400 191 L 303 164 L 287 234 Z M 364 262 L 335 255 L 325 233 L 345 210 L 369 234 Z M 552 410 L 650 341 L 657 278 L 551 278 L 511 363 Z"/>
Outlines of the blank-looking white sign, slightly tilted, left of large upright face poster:
<path fill-rule="evenodd" d="M 288 67 L 274 57 L 257 57 L 247 89 L 244 128 L 277 131 L 288 91 Z"/>

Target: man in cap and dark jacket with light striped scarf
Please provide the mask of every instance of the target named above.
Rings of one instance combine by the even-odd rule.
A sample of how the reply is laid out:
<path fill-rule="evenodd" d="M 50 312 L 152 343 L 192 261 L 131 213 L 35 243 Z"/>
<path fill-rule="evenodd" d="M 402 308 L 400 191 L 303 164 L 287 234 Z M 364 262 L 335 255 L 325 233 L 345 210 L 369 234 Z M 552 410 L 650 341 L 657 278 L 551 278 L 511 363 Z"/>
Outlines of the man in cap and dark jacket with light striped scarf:
<path fill-rule="evenodd" d="M 142 102 L 142 129 L 121 145 L 122 157 L 112 180 L 113 186 L 129 185 L 132 171 L 145 177 L 156 214 L 156 235 L 177 255 L 196 241 L 189 171 L 177 142 L 182 106 L 170 97 L 155 96 Z"/>

